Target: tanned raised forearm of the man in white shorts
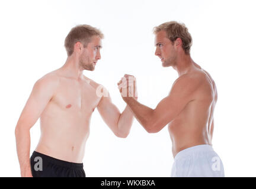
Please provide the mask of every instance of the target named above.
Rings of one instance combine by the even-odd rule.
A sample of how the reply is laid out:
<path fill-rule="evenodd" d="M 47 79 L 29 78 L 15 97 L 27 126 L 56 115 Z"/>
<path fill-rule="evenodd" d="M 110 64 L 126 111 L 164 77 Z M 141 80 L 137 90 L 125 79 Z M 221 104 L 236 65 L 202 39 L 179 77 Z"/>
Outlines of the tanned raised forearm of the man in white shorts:
<path fill-rule="evenodd" d="M 150 120 L 153 116 L 153 109 L 145 105 L 142 105 L 133 98 L 125 99 L 125 102 L 127 103 L 127 105 L 129 105 L 130 110 L 132 110 L 132 113 L 138 120 L 138 122 L 143 126 L 143 128 L 146 129 L 146 131 L 150 132 Z"/>

